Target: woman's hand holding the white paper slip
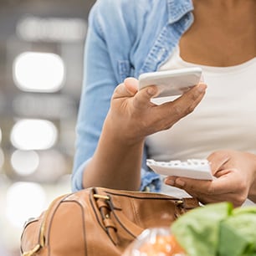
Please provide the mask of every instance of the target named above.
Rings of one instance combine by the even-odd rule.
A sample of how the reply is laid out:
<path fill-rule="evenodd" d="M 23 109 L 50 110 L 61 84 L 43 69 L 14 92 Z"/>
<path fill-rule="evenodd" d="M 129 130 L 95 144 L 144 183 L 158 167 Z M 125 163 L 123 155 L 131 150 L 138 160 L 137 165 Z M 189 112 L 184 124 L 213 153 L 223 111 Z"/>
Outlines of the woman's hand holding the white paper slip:
<path fill-rule="evenodd" d="M 202 203 L 233 202 L 239 207 L 248 198 L 255 202 L 256 156 L 241 151 L 216 151 L 207 157 L 216 179 L 201 181 L 166 177 L 166 184 L 187 191 Z"/>

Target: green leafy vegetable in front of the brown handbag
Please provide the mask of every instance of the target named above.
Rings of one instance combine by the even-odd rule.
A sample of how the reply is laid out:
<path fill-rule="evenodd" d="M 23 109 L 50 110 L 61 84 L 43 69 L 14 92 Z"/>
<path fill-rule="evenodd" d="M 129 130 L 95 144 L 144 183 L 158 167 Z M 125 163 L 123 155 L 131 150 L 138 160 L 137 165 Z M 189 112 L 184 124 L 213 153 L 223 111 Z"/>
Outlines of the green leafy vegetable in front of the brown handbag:
<path fill-rule="evenodd" d="M 171 228 L 189 256 L 256 256 L 256 207 L 212 203 L 182 215 Z"/>

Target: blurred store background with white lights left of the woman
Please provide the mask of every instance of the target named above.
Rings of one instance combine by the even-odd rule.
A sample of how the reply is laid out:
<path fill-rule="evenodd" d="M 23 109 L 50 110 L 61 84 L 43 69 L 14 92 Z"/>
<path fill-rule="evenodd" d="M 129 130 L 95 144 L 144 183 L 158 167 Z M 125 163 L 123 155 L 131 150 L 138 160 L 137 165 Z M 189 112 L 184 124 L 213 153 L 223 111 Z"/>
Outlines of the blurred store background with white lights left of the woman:
<path fill-rule="evenodd" d="M 0 0 L 0 256 L 70 192 L 84 38 L 94 0 Z"/>

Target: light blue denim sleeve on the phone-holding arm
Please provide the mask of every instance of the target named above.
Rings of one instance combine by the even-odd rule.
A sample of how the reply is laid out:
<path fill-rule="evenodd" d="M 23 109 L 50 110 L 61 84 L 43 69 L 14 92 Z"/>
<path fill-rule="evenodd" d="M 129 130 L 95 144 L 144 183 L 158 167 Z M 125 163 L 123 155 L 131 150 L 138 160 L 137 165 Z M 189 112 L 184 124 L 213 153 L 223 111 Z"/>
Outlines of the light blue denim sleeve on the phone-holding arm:
<path fill-rule="evenodd" d="M 93 8 L 84 48 L 84 79 L 76 124 L 72 172 L 74 191 L 83 188 L 84 166 L 95 152 L 102 125 L 110 107 L 111 95 L 118 83 L 99 19 L 96 8 Z"/>

